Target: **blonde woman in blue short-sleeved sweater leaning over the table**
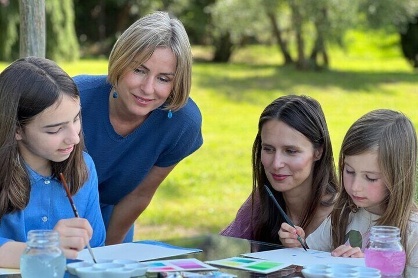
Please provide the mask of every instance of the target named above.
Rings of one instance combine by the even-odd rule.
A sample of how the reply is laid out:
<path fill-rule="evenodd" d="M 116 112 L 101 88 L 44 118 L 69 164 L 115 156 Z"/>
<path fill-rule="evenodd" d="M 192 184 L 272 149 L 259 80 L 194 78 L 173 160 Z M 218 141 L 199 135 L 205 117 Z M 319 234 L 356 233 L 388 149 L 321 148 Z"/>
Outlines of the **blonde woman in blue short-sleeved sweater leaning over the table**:
<path fill-rule="evenodd" d="M 117 40 L 107 76 L 74 78 L 87 152 L 95 161 L 106 245 L 133 240 L 133 223 L 162 181 L 203 143 L 189 98 L 192 55 L 180 21 L 147 15 Z"/>

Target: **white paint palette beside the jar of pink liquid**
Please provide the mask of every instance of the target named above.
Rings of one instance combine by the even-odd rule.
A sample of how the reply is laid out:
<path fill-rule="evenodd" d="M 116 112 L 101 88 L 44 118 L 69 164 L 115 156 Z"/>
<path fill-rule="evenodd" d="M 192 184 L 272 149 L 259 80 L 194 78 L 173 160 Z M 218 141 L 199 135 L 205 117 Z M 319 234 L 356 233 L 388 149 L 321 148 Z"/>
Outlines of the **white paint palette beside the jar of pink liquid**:
<path fill-rule="evenodd" d="M 333 278 L 333 277 L 361 277 L 381 278 L 380 270 L 371 267 L 352 266 L 348 264 L 310 265 L 302 270 L 306 278 Z"/>

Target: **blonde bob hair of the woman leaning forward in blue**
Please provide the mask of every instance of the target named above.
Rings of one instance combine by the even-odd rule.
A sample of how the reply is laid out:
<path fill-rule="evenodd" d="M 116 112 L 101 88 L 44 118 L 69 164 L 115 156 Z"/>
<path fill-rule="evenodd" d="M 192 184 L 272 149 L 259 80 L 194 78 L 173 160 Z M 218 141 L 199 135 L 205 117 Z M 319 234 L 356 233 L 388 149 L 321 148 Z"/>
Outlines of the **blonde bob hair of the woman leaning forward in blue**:
<path fill-rule="evenodd" d="M 164 108 L 176 111 L 189 98 L 192 52 L 183 24 L 166 12 L 146 15 L 122 33 L 110 53 L 107 80 L 116 87 L 122 75 L 148 61 L 157 48 L 170 48 L 176 59 L 173 92 Z"/>

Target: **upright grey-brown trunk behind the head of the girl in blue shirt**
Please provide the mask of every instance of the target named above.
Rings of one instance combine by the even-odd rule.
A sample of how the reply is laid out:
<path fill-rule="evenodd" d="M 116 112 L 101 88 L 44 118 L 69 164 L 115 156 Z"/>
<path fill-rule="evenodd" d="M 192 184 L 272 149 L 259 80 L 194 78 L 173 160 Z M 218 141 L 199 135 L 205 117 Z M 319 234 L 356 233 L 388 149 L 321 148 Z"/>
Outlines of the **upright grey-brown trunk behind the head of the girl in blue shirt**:
<path fill-rule="evenodd" d="M 20 0 L 20 57 L 45 58 L 45 0 Z"/>

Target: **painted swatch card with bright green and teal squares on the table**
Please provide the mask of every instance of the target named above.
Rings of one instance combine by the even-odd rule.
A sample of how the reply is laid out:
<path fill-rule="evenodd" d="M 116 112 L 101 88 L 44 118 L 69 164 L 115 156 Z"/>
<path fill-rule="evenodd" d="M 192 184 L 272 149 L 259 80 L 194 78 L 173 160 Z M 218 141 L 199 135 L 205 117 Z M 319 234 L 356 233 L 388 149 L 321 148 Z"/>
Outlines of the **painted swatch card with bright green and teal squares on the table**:
<path fill-rule="evenodd" d="M 290 266 L 291 264 L 279 263 L 274 261 L 248 259 L 242 257 L 232 257 L 216 261 L 208 261 L 208 264 L 224 266 L 229 268 L 242 269 L 251 272 L 257 272 L 262 274 L 268 274 L 279 271 L 283 268 Z"/>

